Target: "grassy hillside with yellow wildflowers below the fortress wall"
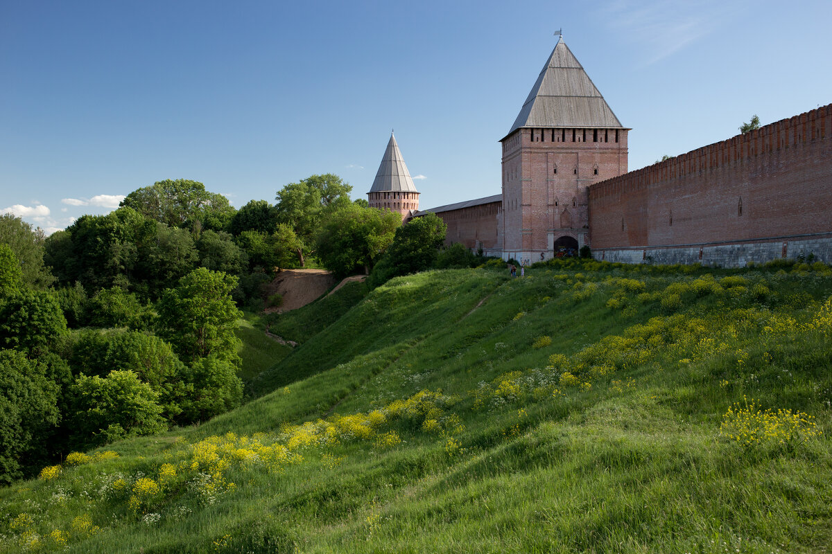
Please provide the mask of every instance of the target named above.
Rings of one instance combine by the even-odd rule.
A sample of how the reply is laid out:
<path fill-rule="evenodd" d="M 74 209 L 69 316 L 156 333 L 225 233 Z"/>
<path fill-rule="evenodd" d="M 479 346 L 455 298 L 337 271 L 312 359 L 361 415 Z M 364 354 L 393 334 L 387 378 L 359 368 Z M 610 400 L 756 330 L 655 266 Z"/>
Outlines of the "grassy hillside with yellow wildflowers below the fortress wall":
<path fill-rule="evenodd" d="M 825 552 L 832 275 L 705 273 L 400 277 L 274 392 L 0 491 L 0 552 Z"/>

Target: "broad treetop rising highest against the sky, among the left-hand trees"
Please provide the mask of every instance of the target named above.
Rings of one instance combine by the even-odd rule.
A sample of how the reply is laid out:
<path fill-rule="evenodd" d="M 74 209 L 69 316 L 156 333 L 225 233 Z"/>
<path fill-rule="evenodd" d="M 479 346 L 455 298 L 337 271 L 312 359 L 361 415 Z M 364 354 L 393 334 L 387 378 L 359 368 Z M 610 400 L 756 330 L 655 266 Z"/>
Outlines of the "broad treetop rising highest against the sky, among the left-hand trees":
<path fill-rule="evenodd" d="M 166 223 L 169 227 L 220 231 L 234 216 L 228 199 L 211 193 L 204 184 L 191 179 L 166 179 L 137 189 L 121 201 L 144 217 Z"/>

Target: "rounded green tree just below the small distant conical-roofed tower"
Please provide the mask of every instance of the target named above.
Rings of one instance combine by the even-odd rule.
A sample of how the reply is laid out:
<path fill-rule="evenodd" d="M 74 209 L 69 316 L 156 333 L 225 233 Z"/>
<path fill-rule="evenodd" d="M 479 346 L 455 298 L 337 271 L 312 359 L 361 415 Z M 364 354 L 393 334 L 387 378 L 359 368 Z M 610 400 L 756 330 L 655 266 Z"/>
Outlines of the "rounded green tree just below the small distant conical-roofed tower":
<path fill-rule="evenodd" d="M 401 224 L 398 213 L 348 203 L 326 218 L 315 251 L 324 267 L 338 277 L 357 269 L 369 273 Z"/>

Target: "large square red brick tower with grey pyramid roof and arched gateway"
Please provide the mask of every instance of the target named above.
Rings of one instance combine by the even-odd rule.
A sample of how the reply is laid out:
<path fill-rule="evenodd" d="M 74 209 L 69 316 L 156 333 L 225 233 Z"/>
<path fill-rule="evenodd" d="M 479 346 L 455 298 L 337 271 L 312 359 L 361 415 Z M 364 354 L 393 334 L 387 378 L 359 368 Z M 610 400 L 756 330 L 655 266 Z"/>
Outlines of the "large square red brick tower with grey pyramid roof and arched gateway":
<path fill-rule="evenodd" d="M 561 37 L 500 140 L 503 257 L 589 244 L 587 187 L 626 173 L 627 130 Z"/>

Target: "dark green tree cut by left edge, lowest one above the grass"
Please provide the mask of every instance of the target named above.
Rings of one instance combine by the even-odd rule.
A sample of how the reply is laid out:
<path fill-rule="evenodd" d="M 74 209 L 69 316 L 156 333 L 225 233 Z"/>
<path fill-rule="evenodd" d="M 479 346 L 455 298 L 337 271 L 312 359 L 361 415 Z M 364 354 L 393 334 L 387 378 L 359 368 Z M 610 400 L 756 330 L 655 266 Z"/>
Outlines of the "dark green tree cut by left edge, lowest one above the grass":
<path fill-rule="evenodd" d="M 22 477 L 31 458 L 40 458 L 43 440 L 57 424 L 57 392 L 44 365 L 0 350 L 0 483 Z"/>

